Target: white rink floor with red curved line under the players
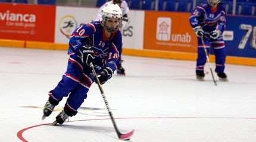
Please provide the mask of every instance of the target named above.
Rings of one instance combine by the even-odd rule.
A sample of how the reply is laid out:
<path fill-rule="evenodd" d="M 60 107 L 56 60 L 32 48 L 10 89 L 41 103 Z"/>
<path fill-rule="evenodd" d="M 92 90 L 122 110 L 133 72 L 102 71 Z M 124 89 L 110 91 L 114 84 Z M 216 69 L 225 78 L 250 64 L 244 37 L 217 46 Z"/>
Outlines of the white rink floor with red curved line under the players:
<path fill-rule="evenodd" d="M 18 135 L 36 142 L 121 141 L 95 84 L 82 107 L 101 109 L 80 109 L 64 125 L 46 125 L 55 120 L 64 99 L 41 120 L 48 91 L 65 72 L 66 53 L 0 48 L 0 141 L 22 141 Z M 209 73 L 205 82 L 195 80 L 195 62 L 123 59 L 127 76 L 114 75 L 103 89 L 120 131 L 135 129 L 130 141 L 256 141 L 256 67 L 227 64 L 229 82 L 214 86 Z"/>

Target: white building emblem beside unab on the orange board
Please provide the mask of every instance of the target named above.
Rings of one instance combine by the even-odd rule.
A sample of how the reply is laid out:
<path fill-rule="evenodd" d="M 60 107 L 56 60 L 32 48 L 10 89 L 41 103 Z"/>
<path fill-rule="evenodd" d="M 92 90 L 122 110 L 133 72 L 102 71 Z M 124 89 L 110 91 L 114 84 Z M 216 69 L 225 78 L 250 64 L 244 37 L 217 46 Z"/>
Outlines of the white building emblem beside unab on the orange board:
<path fill-rule="evenodd" d="M 168 41 L 171 35 L 171 18 L 159 17 L 157 19 L 157 40 Z"/>

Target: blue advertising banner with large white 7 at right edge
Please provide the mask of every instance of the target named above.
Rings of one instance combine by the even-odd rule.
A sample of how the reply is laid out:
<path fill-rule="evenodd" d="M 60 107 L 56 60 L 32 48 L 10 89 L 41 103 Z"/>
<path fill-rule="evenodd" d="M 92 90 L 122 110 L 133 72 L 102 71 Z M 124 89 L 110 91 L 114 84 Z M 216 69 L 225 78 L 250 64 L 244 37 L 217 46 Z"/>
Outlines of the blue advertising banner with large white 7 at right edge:
<path fill-rule="evenodd" d="M 256 57 L 256 17 L 228 16 L 224 40 L 228 56 Z M 226 39 L 225 39 L 226 38 Z"/>

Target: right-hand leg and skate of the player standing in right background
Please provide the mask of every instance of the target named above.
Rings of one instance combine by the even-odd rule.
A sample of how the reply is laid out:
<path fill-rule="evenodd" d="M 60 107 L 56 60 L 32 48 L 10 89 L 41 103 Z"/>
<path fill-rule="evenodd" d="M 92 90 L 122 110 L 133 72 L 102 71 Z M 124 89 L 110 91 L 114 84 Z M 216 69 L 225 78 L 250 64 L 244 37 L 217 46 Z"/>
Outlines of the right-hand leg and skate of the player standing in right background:
<path fill-rule="evenodd" d="M 225 62 L 226 62 L 226 48 L 224 46 L 224 41 L 215 41 L 211 45 L 214 48 L 214 54 L 216 57 L 216 69 L 215 72 L 218 78 L 223 81 L 228 81 L 226 73 L 224 73 Z"/>

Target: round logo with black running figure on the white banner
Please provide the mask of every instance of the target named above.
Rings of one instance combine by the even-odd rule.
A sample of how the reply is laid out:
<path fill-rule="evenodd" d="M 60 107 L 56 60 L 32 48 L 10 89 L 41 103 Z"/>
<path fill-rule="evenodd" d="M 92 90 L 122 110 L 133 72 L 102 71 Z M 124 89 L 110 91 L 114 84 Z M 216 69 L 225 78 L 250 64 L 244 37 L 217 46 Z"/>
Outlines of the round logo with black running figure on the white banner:
<path fill-rule="evenodd" d="M 77 28 L 77 21 L 72 15 L 65 15 L 59 22 L 60 31 L 68 39 Z"/>

